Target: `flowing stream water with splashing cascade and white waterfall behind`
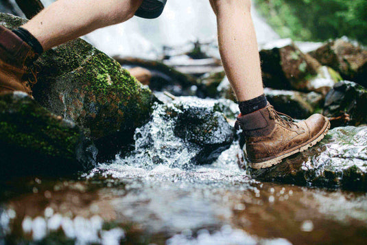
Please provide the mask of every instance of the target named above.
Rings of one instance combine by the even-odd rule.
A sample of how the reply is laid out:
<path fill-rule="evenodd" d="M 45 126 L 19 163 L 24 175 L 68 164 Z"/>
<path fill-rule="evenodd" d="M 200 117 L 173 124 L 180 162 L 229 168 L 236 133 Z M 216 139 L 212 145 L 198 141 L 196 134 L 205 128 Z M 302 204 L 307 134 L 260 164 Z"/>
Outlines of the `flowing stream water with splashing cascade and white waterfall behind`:
<path fill-rule="evenodd" d="M 278 38 L 256 12 L 254 23 L 259 43 Z M 154 58 L 163 44 L 215 38 L 215 17 L 207 1 L 168 1 L 160 19 L 134 18 L 86 38 L 108 54 Z M 238 113 L 235 105 L 228 108 L 228 117 Z M 0 244 L 366 242 L 365 193 L 253 180 L 239 167 L 238 141 L 214 163 L 193 165 L 198 148 L 176 137 L 163 114 L 157 105 L 152 120 L 136 131 L 131 154 L 91 172 L 1 182 Z M 149 148 L 147 139 L 154 142 Z"/>

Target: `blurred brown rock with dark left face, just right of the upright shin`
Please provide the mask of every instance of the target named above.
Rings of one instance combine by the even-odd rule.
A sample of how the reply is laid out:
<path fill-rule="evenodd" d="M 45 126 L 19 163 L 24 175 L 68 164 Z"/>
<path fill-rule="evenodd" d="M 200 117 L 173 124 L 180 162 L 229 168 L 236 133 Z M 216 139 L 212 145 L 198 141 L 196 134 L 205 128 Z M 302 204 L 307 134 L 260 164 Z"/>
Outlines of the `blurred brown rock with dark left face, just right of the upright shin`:
<path fill-rule="evenodd" d="M 341 80 L 338 73 L 303 54 L 292 40 L 266 45 L 260 51 L 260 57 L 264 85 L 272 89 L 326 94 L 335 82 Z"/>

